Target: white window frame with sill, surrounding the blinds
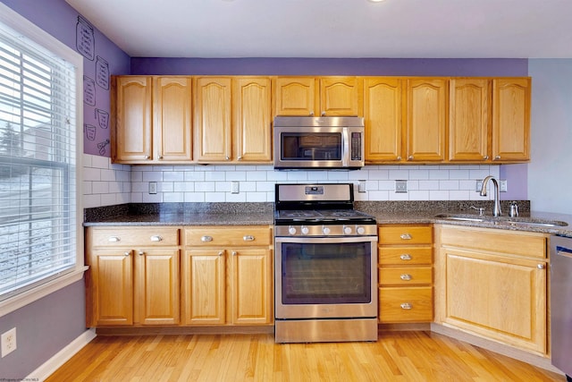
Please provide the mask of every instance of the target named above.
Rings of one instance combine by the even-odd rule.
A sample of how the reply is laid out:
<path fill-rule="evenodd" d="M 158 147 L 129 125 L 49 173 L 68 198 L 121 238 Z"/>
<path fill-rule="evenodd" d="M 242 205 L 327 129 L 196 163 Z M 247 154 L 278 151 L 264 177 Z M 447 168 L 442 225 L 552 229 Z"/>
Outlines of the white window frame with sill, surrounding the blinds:
<path fill-rule="evenodd" d="M 84 240 L 83 240 L 83 192 L 81 190 L 82 184 L 82 157 L 83 157 L 83 57 L 67 47 L 63 42 L 54 38 L 49 33 L 41 30 L 37 25 L 25 19 L 20 13 L 16 13 L 10 7 L 0 3 L 0 21 L 9 26 L 13 30 L 20 32 L 26 38 L 29 38 L 40 46 L 45 47 L 50 52 L 62 57 L 68 63 L 75 66 L 75 81 L 76 81 L 76 103 L 75 103 L 75 133 L 76 133 L 76 162 L 75 162 L 75 235 L 76 235 L 76 248 L 75 248 L 75 267 L 71 272 L 67 272 L 62 276 L 58 276 L 44 284 L 38 284 L 22 293 L 15 294 L 3 301 L 0 301 L 0 317 L 14 311 L 21 307 L 28 305 L 33 301 L 45 297 L 50 293 L 64 288 L 80 281 L 83 278 L 84 272 L 88 269 L 84 265 Z"/>

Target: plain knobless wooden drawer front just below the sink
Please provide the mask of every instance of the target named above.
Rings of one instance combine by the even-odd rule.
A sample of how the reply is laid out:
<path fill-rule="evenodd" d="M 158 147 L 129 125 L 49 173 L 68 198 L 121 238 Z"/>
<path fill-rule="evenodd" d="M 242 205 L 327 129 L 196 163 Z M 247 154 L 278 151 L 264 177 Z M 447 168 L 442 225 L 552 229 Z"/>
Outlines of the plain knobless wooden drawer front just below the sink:
<path fill-rule="evenodd" d="M 441 242 L 442 246 L 546 258 L 547 239 L 543 233 L 448 225 L 441 231 Z"/>

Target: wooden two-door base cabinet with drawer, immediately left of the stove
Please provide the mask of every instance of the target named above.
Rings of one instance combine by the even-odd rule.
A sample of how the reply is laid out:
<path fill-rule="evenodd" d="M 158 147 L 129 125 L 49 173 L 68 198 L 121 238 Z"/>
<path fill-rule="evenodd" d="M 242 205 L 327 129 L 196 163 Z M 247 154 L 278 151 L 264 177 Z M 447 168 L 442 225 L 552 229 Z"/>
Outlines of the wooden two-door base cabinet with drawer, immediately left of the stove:
<path fill-rule="evenodd" d="M 188 226 L 182 263 L 185 325 L 272 325 L 272 229 Z"/>

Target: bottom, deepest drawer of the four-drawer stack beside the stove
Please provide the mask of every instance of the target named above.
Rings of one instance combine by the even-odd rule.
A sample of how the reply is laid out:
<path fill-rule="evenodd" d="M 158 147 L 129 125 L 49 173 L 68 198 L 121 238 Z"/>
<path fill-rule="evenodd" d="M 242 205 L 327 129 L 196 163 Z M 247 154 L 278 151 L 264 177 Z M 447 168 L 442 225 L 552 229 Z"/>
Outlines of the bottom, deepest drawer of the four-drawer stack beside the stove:
<path fill-rule="evenodd" d="M 379 288 L 380 322 L 427 322 L 433 320 L 431 286 Z"/>

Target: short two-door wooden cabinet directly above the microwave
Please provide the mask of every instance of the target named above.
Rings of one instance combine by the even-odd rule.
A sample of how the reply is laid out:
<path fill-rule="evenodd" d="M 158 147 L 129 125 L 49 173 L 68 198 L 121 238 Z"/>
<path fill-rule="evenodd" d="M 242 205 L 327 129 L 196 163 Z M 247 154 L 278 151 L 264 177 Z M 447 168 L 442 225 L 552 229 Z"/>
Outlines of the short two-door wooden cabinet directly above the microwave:
<path fill-rule="evenodd" d="M 361 115 L 357 77 L 278 77 L 276 115 Z"/>

